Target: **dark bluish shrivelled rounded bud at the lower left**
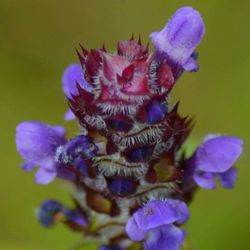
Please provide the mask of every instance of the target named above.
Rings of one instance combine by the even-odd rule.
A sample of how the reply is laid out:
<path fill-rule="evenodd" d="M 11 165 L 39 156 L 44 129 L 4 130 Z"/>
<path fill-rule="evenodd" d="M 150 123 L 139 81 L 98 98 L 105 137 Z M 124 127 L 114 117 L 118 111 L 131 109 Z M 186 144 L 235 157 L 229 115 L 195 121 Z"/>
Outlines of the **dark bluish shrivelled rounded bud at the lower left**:
<path fill-rule="evenodd" d="M 37 218 L 39 222 L 45 226 L 50 227 L 55 223 L 57 215 L 62 213 L 63 206 L 58 201 L 46 200 L 37 210 Z"/>

